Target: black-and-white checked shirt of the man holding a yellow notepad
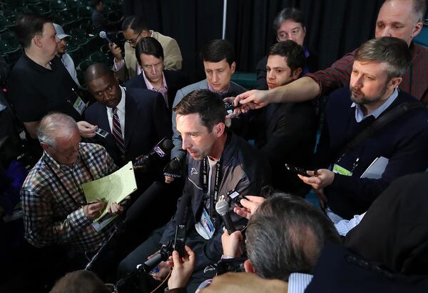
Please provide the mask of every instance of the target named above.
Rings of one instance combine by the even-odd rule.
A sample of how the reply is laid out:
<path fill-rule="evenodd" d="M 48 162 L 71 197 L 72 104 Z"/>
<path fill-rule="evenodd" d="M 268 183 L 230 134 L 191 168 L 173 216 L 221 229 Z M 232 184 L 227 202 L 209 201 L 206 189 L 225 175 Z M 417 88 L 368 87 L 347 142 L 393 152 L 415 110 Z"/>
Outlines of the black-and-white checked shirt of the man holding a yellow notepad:
<path fill-rule="evenodd" d="M 108 237 L 106 229 L 97 233 L 84 216 L 81 184 L 90 182 L 91 175 L 98 179 L 117 167 L 103 146 L 81 143 L 80 147 L 73 167 L 58 164 L 45 152 L 21 188 L 25 238 L 35 247 L 66 244 L 91 252 Z"/>

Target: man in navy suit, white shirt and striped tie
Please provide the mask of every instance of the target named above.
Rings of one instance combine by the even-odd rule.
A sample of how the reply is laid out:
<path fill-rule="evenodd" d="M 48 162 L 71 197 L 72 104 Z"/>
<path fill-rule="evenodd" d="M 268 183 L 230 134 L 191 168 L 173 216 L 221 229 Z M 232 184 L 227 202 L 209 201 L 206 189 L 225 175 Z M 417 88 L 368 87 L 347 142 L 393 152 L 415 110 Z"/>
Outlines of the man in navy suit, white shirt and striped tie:
<path fill-rule="evenodd" d="M 108 132 L 105 138 L 97 135 L 94 139 L 106 147 L 116 164 L 121 166 L 141 154 L 147 154 L 163 137 L 170 137 L 170 119 L 161 94 L 145 89 L 124 89 L 105 64 L 89 66 L 85 79 L 96 99 L 96 103 L 85 112 L 86 121 Z M 115 111 L 118 121 L 114 119 Z M 153 166 L 156 169 L 166 164 L 156 163 Z M 151 169 L 151 172 L 136 172 L 137 182 L 142 175 L 145 181 L 149 181 L 148 177 L 153 178 L 149 174 L 161 174 L 153 172 L 153 167 L 144 168 Z"/>

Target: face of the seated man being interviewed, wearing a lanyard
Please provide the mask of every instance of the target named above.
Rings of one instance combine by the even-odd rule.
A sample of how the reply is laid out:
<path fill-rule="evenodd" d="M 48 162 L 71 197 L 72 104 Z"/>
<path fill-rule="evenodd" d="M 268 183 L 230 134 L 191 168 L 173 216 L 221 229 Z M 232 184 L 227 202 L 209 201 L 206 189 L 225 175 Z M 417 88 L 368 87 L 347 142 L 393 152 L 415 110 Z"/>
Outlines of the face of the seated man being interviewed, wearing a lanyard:
<path fill-rule="evenodd" d="M 177 115 L 177 130 L 183 139 L 182 149 L 196 161 L 210 155 L 217 137 L 213 129 L 200 124 L 199 114 Z"/>

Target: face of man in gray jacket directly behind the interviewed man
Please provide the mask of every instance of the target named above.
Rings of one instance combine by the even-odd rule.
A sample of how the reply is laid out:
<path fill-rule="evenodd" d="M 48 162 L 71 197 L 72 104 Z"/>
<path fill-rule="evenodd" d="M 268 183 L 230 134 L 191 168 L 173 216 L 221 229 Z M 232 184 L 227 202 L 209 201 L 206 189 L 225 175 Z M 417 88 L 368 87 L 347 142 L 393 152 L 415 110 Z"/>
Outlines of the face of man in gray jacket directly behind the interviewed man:
<path fill-rule="evenodd" d="M 229 66 L 228 61 L 223 59 L 219 62 L 203 61 L 205 68 L 205 76 L 207 76 L 208 84 L 215 91 L 225 91 L 228 89 L 230 79 L 235 72 L 235 62 Z"/>

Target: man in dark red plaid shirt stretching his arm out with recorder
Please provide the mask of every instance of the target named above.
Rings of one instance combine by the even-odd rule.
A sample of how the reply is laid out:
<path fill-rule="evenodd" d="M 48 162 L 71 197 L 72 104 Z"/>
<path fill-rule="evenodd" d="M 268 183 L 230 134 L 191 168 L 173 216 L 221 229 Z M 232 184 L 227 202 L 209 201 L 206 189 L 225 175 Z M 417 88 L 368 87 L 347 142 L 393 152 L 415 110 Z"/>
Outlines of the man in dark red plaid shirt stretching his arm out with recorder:
<path fill-rule="evenodd" d="M 385 0 L 374 29 L 376 37 L 394 36 L 407 42 L 412 54 L 412 64 L 404 74 L 399 89 L 407 91 L 424 104 L 428 104 L 428 48 L 414 44 L 412 40 L 422 29 L 422 18 L 426 11 L 425 0 Z M 266 104 L 307 101 L 330 94 L 350 83 L 355 51 L 343 56 L 330 68 L 307 74 L 269 91 L 247 91 L 235 101 L 242 100 L 245 108 L 258 109 Z"/>

